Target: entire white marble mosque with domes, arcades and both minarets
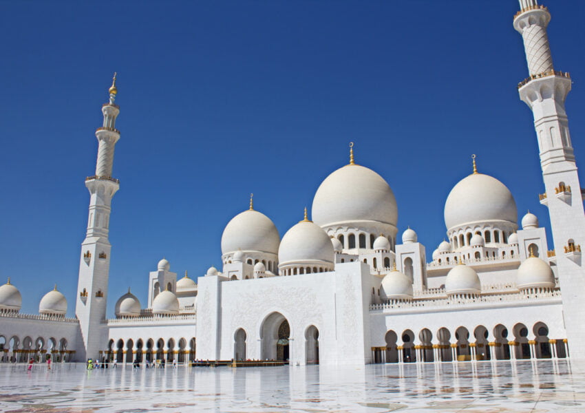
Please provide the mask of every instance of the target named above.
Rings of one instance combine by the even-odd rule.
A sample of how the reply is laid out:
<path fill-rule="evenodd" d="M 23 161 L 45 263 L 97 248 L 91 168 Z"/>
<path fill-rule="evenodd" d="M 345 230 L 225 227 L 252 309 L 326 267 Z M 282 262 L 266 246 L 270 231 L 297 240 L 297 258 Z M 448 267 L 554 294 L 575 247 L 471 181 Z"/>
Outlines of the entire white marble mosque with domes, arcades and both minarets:
<path fill-rule="evenodd" d="M 114 76 L 96 131 L 96 172 L 85 180 L 77 295 L 67 300 L 55 288 L 39 315 L 27 315 L 12 285 L 19 281 L 0 286 L 1 361 L 50 354 L 297 366 L 585 357 L 584 195 L 564 108 L 571 79 L 553 68 L 549 11 L 536 0 L 520 0 L 520 8 L 513 26 L 530 76 L 518 92 L 534 115 L 554 249 L 532 213 L 520 229 L 513 195 L 474 160 L 447 196 L 447 240 L 427 257 L 413 229 L 398 237 L 392 189 L 350 149 L 349 164 L 315 193 L 312 220 L 305 211 L 280 237 L 251 199 L 224 229 L 221 271 L 180 278 L 163 259 L 149 274 L 147 299 L 128 291 L 107 319 L 109 215 L 119 188 L 111 176 L 120 138 Z M 65 318 L 67 305 L 75 318 Z"/>

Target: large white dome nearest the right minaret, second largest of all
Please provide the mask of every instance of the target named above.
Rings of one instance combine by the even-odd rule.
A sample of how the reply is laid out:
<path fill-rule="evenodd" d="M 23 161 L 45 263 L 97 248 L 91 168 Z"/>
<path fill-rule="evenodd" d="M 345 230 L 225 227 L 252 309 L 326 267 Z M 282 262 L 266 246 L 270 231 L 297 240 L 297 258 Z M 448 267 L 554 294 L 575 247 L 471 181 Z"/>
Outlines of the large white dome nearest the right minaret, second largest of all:
<path fill-rule="evenodd" d="M 518 220 L 512 193 L 496 178 L 472 173 L 455 185 L 445 202 L 447 230 L 476 222 Z"/>

